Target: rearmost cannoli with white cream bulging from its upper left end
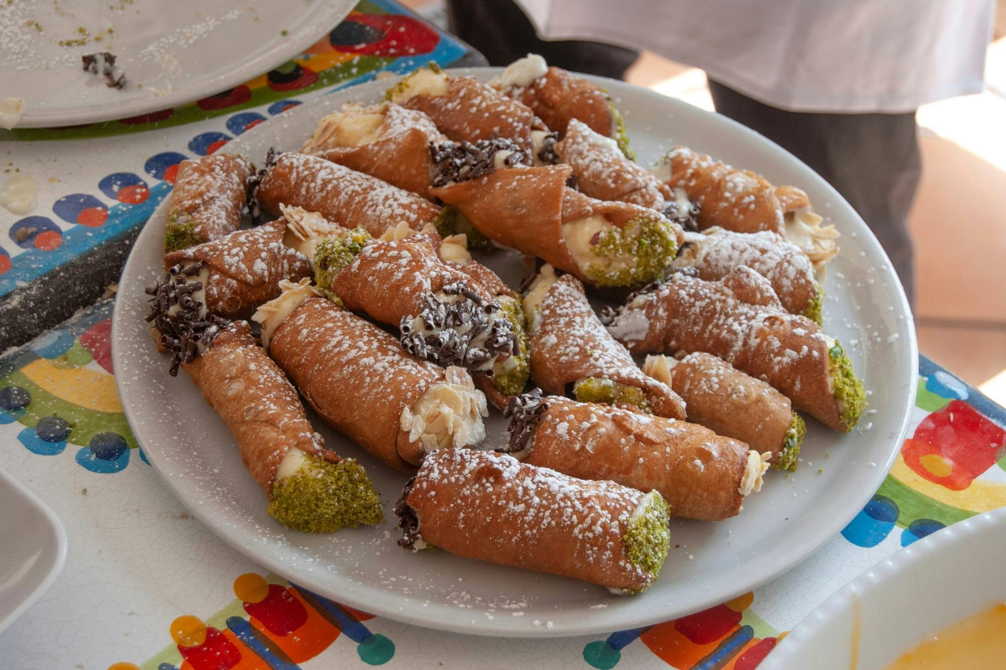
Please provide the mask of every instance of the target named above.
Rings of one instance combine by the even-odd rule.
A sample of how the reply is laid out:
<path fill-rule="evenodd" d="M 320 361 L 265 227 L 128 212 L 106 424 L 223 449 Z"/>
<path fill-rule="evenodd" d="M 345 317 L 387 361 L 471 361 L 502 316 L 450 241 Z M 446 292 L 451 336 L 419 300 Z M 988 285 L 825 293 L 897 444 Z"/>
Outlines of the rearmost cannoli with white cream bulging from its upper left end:
<path fill-rule="evenodd" d="M 490 86 L 531 108 L 560 138 L 568 132 L 569 122 L 577 120 L 595 133 L 613 138 L 629 160 L 636 160 L 622 115 L 597 83 L 561 67 L 549 67 L 540 55 L 528 53 L 510 63 Z"/>

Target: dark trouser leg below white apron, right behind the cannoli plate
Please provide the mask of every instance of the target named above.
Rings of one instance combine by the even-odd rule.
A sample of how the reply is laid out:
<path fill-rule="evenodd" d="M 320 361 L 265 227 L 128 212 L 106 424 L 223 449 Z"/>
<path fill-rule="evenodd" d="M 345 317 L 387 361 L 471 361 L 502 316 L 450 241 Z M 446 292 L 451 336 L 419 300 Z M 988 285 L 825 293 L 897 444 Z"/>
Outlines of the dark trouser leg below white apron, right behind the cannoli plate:
<path fill-rule="evenodd" d="M 913 304 L 907 215 L 921 176 L 914 113 L 786 112 L 711 79 L 709 89 L 717 112 L 794 154 L 849 201 L 887 252 Z"/>

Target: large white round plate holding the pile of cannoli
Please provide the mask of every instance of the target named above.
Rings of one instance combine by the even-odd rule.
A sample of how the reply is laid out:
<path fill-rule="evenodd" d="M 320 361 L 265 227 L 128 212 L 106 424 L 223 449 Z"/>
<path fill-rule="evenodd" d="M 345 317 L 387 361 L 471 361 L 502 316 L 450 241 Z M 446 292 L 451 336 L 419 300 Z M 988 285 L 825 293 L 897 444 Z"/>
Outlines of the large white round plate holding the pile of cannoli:
<path fill-rule="evenodd" d="M 496 70 L 465 71 L 488 78 Z M 302 105 L 245 133 L 227 150 L 261 161 L 270 146 L 298 149 L 325 113 L 346 101 L 376 101 L 393 82 L 374 81 Z M 421 626 L 529 637 L 635 628 L 716 605 L 802 560 L 862 508 L 897 453 L 914 398 L 915 335 L 886 256 L 838 193 L 772 142 L 650 91 L 607 79 L 603 85 L 625 114 L 643 164 L 674 144 L 688 144 L 759 170 L 774 183 L 805 188 L 818 210 L 842 230 L 842 254 L 828 271 L 825 323 L 848 345 L 872 392 L 876 412 L 864 415 L 863 427 L 846 436 L 811 422 L 800 472 L 789 478 L 770 473 L 766 488 L 745 502 L 739 516 L 722 523 L 674 520 L 672 548 L 659 580 L 634 598 L 446 551 L 412 554 L 398 548 L 391 506 L 405 477 L 317 421 L 331 447 L 367 467 L 389 523 L 322 537 L 293 532 L 267 515 L 265 494 L 241 467 L 233 439 L 198 389 L 184 374 L 172 379 L 165 373 L 168 361 L 157 354 L 143 321 L 143 289 L 161 273 L 165 203 L 126 264 L 113 354 L 123 406 L 137 439 L 197 517 L 270 569 L 352 607 Z M 500 252 L 487 263 L 511 284 L 520 280 L 515 254 Z M 491 444 L 505 442 L 504 425 L 498 414 L 490 417 Z M 819 474 L 819 468 L 824 472 Z"/>

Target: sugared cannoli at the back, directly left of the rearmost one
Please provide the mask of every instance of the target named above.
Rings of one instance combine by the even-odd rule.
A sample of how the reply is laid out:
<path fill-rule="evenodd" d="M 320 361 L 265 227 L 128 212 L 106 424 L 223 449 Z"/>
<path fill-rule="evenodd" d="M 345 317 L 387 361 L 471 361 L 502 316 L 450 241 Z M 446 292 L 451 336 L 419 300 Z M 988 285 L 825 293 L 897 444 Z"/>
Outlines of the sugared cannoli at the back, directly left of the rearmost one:
<path fill-rule="evenodd" d="M 555 134 L 534 112 L 474 76 L 451 76 L 431 64 L 398 81 L 386 98 L 425 113 L 454 142 L 503 138 L 538 161 L 552 157 Z"/>

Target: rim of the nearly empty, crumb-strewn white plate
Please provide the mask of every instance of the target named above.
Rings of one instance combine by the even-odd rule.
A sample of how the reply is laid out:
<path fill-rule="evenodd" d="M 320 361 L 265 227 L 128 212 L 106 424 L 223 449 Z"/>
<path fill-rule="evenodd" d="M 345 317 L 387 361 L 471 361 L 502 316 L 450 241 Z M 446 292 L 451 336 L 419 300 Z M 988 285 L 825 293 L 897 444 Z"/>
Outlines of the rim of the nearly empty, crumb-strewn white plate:
<path fill-rule="evenodd" d="M 307 11 L 299 20 L 296 31 L 288 31 L 279 40 L 274 38 L 275 46 L 258 58 L 234 60 L 226 67 L 217 68 L 215 71 L 218 73 L 216 74 L 199 77 L 197 81 L 201 81 L 200 86 L 188 86 L 160 97 L 137 97 L 125 104 L 117 103 L 116 100 L 96 102 L 92 106 L 92 111 L 81 114 L 74 114 L 71 107 L 32 112 L 31 101 L 25 99 L 25 111 L 14 130 L 64 128 L 113 122 L 161 110 L 175 109 L 208 96 L 215 96 L 282 65 L 299 53 L 303 53 L 305 49 L 321 39 L 325 33 L 335 28 L 338 23 L 332 23 L 333 20 L 338 19 L 338 22 L 342 22 L 349 16 L 356 4 L 356 0 L 326 0 L 325 2 L 305 3 L 303 7 Z M 323 31 L 318 27 L 322 25 L 328 27 Z"/>

